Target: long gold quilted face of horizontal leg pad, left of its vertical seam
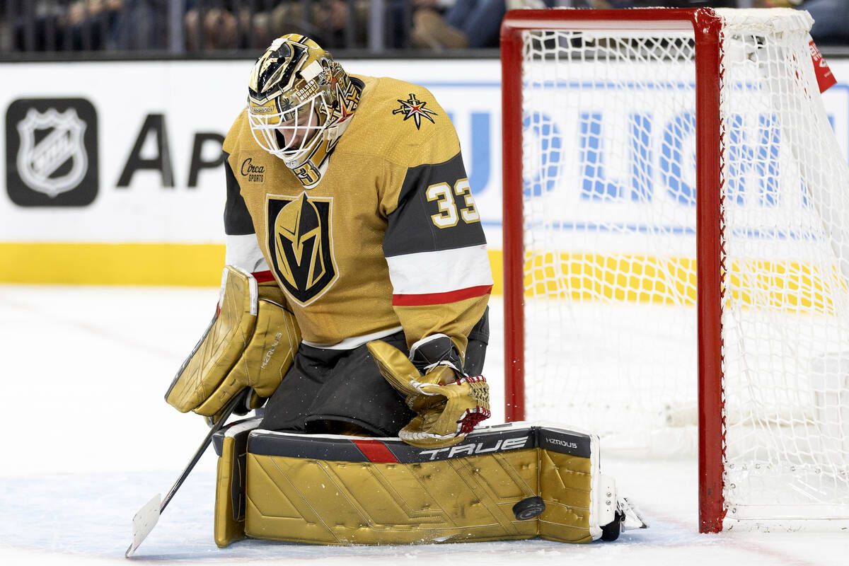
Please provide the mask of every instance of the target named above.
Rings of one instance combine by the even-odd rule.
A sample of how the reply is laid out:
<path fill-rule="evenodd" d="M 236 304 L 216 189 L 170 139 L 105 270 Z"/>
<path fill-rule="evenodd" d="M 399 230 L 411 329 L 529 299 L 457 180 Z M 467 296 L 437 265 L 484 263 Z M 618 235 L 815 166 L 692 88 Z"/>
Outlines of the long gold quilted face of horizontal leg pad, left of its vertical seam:
<path fill-rule="evenodd" d="M 249 454 L 245 531 L 329 545 L 531 538 L 536 522 L 512 512 L 536 495 L 535 451 L 522 452 L 409 464 Z"/>

